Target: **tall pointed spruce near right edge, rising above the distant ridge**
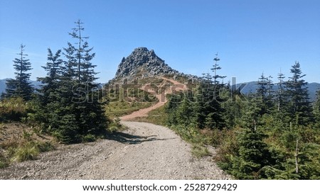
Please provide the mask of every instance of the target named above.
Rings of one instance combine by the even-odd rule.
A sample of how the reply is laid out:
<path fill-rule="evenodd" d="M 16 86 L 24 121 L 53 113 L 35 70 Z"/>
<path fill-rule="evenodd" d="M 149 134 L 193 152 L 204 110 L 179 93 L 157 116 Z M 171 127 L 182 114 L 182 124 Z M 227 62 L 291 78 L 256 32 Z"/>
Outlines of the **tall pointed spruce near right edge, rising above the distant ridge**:
<path fill-rule="evenodd" d="M 295 62 L 291 69 L 292 77 L 287 81 L 287 95 L 289 96 L 288 113 L 297 125 L 308 125 L 313 119 L 311 103 L 309 101 L 308 83 L 302 79 L 299 62 Z"/>

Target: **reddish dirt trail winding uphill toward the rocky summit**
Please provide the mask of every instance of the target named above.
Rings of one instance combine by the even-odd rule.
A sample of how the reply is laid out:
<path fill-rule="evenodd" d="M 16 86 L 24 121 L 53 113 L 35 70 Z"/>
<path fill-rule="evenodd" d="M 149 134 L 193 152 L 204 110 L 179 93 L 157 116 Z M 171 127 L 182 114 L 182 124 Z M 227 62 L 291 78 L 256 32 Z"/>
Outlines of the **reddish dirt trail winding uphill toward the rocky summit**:
<path fill-rule="evenodd" d="M 147 91 L 147 92 L 153 94 L 154 96 L 156 96 L 156 98 L 158 98 L 159 102 L 154 105 L 151 105 L 148 108 L 142 108 L 140 110 L 134 111 L 133 113 L 131 113 L 129 115 L 124 115 L 124 116 L 120 117 L 120 120 L 132 120 L 133 118 L 147 117 L 148 113 L 151 110 L 159 108 L 166 103 L 166 94 L 172 93 L 173 91 L 184 91 L 187 89 L 187 86 L 185 84 L 181 84 L 180 82 L 175 81 L 173 79 L 167 79 L 164 77 L 161 77 L 161 79 L 164 79 L 166 81 L 170 81 L 173 84 L 170 86 L 169 90 L 162 91 L 162 93 L 156 93 L 155 91 L 150 90 L 147 84 L 142 87 L 142 89 L 144 91 Z M 161 88 L 161 86 L 159 86 L 159 88 Z"/>

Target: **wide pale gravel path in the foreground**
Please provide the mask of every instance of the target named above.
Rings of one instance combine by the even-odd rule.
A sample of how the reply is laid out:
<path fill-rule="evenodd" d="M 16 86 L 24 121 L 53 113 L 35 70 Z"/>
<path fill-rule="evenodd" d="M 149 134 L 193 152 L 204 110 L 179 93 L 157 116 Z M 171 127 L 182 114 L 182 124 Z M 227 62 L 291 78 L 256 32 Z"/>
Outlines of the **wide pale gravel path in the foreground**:
<path fill-rule="evenodd" d="M 211 157 L 195 159 L 190 144 L 166 127 L 122 121 L 110 139 L 60 146 L 0 169 L 1 179 L 226 179 Z"/>

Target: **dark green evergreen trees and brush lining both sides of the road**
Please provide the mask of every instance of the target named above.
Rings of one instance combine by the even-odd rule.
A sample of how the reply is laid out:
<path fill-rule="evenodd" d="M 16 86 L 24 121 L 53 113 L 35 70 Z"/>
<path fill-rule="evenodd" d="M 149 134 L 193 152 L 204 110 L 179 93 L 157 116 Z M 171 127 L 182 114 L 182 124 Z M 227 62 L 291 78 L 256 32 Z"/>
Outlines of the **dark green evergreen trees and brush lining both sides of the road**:
<path fill-rule="evenodd" d="M 31 85 L 32 64 L 27 47 L 20 46 L 13 61 L 16 76 L 6 81 L 1 95 L 1 123 L 26 123 L 62 144 L 108 135 L 119 120 L 106 113 L 110 99 L 96 83 L 95 52 L 84 29 L 81 21 L 75 22 L 65 47 L 48 48 L 40 89 Z M 309 99 L 302 65 L 294 62 L 291 74 L 279 72 L 277 81 L 257 75 L 256 91 L 245 95 L 223 83 L 219 63 L 216 56 L 211 73 L 203 74 L 188 91 L 167 96 L 169 101 L 157 110 L 164 115 L 161 125 L 188 142 L 198 142 L 204 154 L 206 146 L 217 147 L 213 162 L 237 179 L 319 180 L 320 91 L 316 101 Z"/>

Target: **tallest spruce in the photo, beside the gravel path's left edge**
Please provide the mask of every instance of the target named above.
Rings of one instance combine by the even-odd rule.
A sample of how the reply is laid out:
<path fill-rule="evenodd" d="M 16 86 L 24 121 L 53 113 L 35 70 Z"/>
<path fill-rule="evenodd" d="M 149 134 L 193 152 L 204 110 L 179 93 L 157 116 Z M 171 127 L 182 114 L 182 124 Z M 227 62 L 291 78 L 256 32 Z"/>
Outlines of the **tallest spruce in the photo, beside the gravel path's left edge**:
<path fill-rule="evenodd" d="M 65 48 L 65 57 L 68 61 L 64 67 L 66 72 L 63 82 L 64 87 L 69 87 L 69 91 L 73 92 L 68 107 L 73 114 L 71 119 L 78 122 L 78 134 L 97 135 L 107 127 L 107 119 L 103 103 L 99 99 L 99 86 L 95 83 L 96 66 L 91 62 L 95 53 L 91 53 L 93 48 L 89 47 L 86 41 L 88 37 L 82 35 L 85 30 L 82 22 L 77 21 L 75 24 L 73 33 L 69 33 L 76 40 L 75 45 L 68 42 L 68 47 Z M 68 93 L 65 90 L 63 92 Z M 70 96 L 65 95 L 65 98 Z"/>

